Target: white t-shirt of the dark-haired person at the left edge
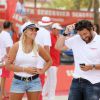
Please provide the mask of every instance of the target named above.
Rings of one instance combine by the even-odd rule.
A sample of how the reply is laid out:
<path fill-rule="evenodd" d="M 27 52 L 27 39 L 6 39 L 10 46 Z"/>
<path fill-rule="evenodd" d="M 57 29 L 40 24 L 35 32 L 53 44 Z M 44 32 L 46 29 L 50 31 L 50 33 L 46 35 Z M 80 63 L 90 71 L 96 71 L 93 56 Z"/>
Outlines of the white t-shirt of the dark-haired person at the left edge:
<path fill-rule="evenodd" d="M 0 60 L 7 54 L 6 48 L 12 45 L 13 41 L 10 34 L 6 31 L 2 31 L 0 33 Z"/>

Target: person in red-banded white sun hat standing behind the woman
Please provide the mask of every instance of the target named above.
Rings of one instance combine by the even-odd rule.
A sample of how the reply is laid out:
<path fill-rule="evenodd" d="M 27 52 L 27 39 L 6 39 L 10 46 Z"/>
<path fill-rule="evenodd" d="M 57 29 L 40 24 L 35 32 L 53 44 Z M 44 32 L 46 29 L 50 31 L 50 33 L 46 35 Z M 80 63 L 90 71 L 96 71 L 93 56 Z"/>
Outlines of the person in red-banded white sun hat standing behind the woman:
<path fill-rule="evenodd" d="M 51 38 L 50 38 L 50 28 L 51 28 L 52 21 L 50 17 L 43 16 L 41 21 L 38 22 L 39 31 L 37 32 L 36 36 L 36 43 L 41 45 L 45 50 L 50 54 L 50 46 L 51 46 Z M 39 57 L 39 66 L 45 65 L 45 61 Z M 42 85 L 44 85 L 45 75 L 40 75 Z M 42 98 L 42 97 L 41 97 Z M 40 100 L 41 100 L 40 98 Z"/>

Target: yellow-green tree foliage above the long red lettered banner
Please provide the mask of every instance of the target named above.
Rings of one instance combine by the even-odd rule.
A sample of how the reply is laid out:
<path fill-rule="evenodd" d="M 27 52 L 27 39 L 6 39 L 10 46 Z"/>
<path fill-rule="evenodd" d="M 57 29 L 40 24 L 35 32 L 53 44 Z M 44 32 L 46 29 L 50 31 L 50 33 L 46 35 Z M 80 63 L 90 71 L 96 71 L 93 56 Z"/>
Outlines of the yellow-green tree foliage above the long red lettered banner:
<path fill-rule="evenodd" d="M 50 0 L 48 8 L 64 9 L 64 10 L 90 10 L 93 8 L 94 0 Z"/>

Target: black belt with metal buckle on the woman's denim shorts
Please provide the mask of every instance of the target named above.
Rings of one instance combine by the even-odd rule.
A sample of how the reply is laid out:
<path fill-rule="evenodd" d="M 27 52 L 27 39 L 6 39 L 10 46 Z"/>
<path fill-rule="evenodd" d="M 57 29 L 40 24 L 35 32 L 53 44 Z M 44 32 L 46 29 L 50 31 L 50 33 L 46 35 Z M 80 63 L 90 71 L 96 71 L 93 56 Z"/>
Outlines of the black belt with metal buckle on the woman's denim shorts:
<path fill-rule="evenodd" d="M 18 76 L 18 75 L 14 74 L 14 78 L 15 79 L 26 81 L 26 82 L 32 81 L 32 80 L 34 80 L 34 79 L 36 79 L 38 77 L 39 77 L 39 74 L 36 74 L 34 76 L 31 76 L 31 77 L 21 77 L 21 76 Z"/>

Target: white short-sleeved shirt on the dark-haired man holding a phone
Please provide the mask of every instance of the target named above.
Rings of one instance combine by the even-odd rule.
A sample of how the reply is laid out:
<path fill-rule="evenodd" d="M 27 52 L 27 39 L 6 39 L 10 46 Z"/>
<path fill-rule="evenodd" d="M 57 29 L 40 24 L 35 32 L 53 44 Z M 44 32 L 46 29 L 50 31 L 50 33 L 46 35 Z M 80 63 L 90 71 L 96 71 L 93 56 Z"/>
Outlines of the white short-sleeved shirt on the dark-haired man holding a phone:
<path fill-rule="evenodd" d="M 86 44 L 79 35 L 65 41 L 65 45 L 73 50 L 75 60 L 74 78 L 84 78 L 95 84 L 100 82 L 100 70 L 82 71 L 79 64 L 100 64 L 100 36 Z"/>

